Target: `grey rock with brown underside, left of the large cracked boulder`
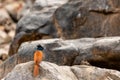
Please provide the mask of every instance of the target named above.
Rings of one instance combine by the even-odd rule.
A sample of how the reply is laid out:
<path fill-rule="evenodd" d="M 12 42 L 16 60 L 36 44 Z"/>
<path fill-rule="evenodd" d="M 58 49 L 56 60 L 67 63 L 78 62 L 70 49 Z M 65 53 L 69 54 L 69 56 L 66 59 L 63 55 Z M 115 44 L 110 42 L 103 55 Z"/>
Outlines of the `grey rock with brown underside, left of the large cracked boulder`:
<path fill-rule="evenodd" d="M 17 24 L 16 35 L 11 43 L 9 55 L 17 53 L 21 43 L 41 38 L 55 38 L 57 35 L 56 28 L 52 22 L 52 15 L 56 8 L 66 3 L 68 0 L 47 0 L 45 5 L 41 5 L 43 0 L 36 0 L 31 12 Z M 40 3 L 39 3 L 40 2 Z"/>

